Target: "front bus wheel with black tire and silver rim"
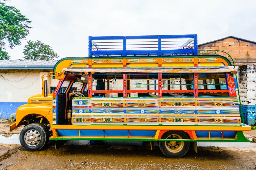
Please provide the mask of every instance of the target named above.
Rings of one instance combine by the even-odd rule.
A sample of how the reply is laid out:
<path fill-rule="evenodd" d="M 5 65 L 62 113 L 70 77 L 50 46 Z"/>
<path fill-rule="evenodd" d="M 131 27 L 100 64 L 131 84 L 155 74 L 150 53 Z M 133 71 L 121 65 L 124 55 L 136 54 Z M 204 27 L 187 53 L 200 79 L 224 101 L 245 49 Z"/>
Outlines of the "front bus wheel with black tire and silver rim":
<path fill-rule="evenodd" d="M 31 134 L 31 135 L 28 135 L 28 134 Z M 32 141 L 33 136 L 36 136 L 36 139 L 38 139 L 38 140 L 33 139 L 36 142 Z M 28 141 L 26 141 L 25 138 L 31 138 L 31 139 L 27 139 Z M 42 149 L 47 142 L 47 138 L 49 140 L 49 130 L 46 128 L 44 124 L 40 124 L 40 123 L 29 124 L 25 126 L 20 132 L 20 144 L 24 149 L 28 151 L 38 151 Z M 30 142 L 31 144 L 27 144 L 28 142 Z"/>

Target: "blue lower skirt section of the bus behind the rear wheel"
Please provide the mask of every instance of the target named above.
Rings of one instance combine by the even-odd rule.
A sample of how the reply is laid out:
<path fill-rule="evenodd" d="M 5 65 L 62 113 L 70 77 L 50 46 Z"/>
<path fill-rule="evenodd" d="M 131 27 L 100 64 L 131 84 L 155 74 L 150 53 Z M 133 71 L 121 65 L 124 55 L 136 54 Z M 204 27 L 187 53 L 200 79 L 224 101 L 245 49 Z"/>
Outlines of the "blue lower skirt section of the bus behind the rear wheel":
<path fill-rule="evenodd" d="M 211 131 L 210 137 L 219 137 L 221 138 L 222 131 Z M 223 131 L 223 138 L 234 138 L 237 131 Z M 197 137 L 209 137 L 209 131 L 196 131 Z"/>

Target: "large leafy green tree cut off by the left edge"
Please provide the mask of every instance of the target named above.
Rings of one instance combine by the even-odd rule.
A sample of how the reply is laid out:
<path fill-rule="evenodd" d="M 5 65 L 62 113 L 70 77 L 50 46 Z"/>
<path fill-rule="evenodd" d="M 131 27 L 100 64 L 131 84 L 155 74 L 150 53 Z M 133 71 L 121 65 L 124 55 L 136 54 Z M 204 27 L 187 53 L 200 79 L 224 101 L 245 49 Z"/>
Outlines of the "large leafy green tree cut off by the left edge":
<path fill-rule="evenodd" d="M 13 6 L 0 2 L 0 60 L 9 60 L 10 56 L 5 52 L 5 42 L 13 49 L 19 46 L 20 40 L 24 39 L 30 30 L 31 21 L 20 10 Z"/>

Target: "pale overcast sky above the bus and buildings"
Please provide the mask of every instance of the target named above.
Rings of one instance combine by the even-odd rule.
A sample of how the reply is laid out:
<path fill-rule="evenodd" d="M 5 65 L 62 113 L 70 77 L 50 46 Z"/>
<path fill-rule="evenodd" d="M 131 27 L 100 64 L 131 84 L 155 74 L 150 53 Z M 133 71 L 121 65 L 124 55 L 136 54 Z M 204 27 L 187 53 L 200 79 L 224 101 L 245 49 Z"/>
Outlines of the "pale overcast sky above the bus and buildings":
<path fill-rule="evenodd" d="M 6 51 L 22 59 L 28 40 L 63 57 L 88 56 L 88 36 L 198 34 L 198 44 L 230 35 L 256 41 L 255 0 L 11 0 L 30 34 Z"/>

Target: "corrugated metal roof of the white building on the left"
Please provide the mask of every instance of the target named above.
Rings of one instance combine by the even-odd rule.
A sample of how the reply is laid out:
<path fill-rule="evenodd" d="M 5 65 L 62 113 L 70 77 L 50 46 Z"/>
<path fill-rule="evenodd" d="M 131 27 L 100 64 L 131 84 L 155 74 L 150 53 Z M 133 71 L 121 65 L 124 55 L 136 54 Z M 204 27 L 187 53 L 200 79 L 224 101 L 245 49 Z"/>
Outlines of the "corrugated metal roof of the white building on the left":
<path fill-rule="evenodd" d="M 0 69 L 53 69 L 59 60 L 0 60 Z"/>

